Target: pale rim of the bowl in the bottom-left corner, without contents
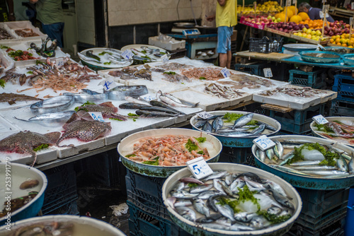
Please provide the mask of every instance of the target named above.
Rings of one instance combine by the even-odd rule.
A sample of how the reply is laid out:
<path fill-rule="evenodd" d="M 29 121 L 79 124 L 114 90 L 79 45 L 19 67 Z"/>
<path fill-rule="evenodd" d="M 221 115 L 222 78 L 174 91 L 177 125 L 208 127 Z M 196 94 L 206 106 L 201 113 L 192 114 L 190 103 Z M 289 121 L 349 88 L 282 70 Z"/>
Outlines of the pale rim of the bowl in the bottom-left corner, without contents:
<path fill-rule="evenodd" d="M 16 223 L 13 221 L 13 223 L 11 224 L 11 230 L 6 230 L 6 225 L 0 228 L 0 235 L 17 235 L 17 230 L 28 227 L 30 225 L 40 225 L 40 223 L 71 223 L 74 225 L 74 234 L 72 234 L 72 236 L 125 236 L 122 231 L 113 227 L 113 225 L 105 223 L 102 220 L 96 220 L 94 218 L 86 216 L 70 215 L 40 216 L 35 218 L 29 218 L 26 220 L 16 221 Z"/>

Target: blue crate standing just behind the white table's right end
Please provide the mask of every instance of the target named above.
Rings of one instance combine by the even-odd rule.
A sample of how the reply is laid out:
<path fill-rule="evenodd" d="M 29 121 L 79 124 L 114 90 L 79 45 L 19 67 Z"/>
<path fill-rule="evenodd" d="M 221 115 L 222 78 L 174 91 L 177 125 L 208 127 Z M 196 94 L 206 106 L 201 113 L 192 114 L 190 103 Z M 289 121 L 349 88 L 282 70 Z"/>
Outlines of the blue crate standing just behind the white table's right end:
<path fill-rule="evenodd" d="M 312 88 L 323 88 L 325 83 L 324 69 L 305 72 L 299 69 L 289 71 L 289 82 L 295 85 L 305 85 Z"/>

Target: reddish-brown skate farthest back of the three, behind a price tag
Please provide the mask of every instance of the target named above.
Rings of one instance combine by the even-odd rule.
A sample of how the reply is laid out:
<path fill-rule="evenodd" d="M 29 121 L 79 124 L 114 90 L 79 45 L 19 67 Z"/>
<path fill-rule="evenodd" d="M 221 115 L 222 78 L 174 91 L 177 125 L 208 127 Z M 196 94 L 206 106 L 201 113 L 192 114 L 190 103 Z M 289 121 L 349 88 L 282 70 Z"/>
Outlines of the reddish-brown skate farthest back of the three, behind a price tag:
<path fill-rule="evenodd" d="M 115 107 L 112 102 L 103 102 L 98 105 L 85 105 L 83 107 L 77 107 L 78 111 L 84 110 L 85 112 L 101 112 L 103 119 L 105 118 L 114 118 L 120 120 L 127 120 L 121 114 L 118 114 L 118 107 Z"/>

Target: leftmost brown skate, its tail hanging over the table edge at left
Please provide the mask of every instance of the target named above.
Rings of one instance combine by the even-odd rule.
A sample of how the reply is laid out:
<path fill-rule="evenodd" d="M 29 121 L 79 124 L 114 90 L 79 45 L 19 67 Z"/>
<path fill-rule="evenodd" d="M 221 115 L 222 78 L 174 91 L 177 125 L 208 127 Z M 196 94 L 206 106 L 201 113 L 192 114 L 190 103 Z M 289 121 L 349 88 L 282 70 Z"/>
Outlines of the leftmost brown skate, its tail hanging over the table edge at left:
<path fill-rule="evenodd" d="M 29 153 L 34 158 L 31 166 L 35 165 L 37 153 L 33 148 L 41 144 L 54 144 L 60 137 L 60 132 L 38 134 L 31 131 L 20 131 L 0 140 L 0 151 L 10 153 Z"/>

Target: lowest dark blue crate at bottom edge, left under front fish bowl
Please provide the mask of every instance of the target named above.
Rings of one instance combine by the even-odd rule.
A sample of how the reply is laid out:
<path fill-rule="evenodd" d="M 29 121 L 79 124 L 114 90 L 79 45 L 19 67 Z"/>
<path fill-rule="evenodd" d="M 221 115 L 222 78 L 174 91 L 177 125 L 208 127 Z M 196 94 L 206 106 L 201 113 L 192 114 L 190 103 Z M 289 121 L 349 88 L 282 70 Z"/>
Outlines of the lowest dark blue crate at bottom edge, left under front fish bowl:
<path fill-rule="evenodd" d="M 190 236 L 170 220 L 165 220 L 139 209 L 135 204 L 127 201 L 129 206 L 130 235 L 141 236 Z"/>

